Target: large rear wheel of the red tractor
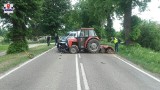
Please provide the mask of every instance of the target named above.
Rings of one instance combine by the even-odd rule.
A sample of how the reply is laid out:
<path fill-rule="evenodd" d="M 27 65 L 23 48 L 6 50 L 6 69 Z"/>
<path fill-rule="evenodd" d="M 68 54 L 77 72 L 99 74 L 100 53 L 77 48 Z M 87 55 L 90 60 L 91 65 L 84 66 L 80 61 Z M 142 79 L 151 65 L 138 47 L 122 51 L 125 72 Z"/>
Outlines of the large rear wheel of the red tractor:
<path fill-rule="evenodd" d="M 87 44 L 87 50 L 90 53 L 97 53 L 100 50 L 100 44 L 99 41 L 97 39 L 91 39 L 89 40 L 88 44 Z"/>

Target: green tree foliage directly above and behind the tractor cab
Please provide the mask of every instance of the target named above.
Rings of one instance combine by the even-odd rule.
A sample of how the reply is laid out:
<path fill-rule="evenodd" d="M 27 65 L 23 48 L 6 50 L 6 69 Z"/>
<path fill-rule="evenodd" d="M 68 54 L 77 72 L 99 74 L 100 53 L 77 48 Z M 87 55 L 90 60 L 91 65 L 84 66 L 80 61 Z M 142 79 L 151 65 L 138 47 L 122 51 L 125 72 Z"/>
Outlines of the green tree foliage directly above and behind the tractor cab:
<path fill-rule="evenodd" d="M 73 8 L 65 15 L 65 30 L 75 30 L 81 27 L 95 27 L 95 31 L 98 36 L 103 36 L 102 21 L 94 14 L 93 9 L 88 0 L 82 0 L 77 3 Z M 104 21 L 104 20 L 103 20 Z"/>

